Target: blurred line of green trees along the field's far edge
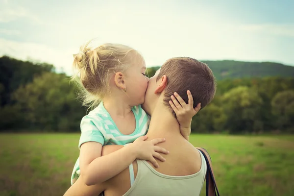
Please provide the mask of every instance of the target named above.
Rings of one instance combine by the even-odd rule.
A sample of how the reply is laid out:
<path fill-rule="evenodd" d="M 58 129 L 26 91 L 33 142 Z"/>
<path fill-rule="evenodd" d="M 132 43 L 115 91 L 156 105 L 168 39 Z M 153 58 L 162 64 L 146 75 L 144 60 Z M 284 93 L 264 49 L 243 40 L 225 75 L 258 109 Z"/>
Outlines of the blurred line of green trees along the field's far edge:
<path fill-rule="evenodd" d="M 148 68 L 149 76 L 158 67 Z M 294 78 L 218 80 L 217 94 L 192 121 L 192 131 L 294 133 Z M 65 73 L 47 63 L 0 58 L 0 131 L 79 132 L 87 109 Z"/>

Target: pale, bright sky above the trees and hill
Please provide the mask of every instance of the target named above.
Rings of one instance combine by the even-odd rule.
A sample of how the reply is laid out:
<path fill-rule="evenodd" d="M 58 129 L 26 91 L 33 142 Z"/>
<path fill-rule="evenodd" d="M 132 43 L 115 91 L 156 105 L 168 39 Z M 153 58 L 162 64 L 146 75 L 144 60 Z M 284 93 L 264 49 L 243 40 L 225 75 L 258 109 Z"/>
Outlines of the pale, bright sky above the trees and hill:
<path fill-rule="evenodd" d="M 93 38 L 137 49 L 147 67 L 176 56 L 294 66 L 294 0 L 0 0 L 0 56 L 72 73 Z"/>

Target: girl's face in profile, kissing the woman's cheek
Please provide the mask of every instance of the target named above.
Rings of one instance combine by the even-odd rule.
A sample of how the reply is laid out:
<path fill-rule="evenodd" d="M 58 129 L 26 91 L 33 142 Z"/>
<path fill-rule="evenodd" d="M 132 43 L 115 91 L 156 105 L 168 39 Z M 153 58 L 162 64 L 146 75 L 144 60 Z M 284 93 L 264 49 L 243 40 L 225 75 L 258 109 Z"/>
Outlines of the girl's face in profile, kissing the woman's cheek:
<path fill-rule="evenodd" d="M 132 105 L 140 105 L 145 101 L 145 93 L 149 78 L 145 75 L 146 64 L 141 55 L 137 55 L 134 62 L 126 71 L 125 85 L 128 102 Z"/>

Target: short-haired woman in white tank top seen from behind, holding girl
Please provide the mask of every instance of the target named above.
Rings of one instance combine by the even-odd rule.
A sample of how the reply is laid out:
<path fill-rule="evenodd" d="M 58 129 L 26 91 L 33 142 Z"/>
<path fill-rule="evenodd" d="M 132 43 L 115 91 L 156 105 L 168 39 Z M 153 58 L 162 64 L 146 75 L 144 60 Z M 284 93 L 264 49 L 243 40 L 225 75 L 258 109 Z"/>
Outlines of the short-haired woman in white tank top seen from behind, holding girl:
<path fill-rule="evenodd" d="M 206 177 L 205 157 L 183 137 L 190 133 L 181 133 L 173 112 L 179 104 L 188 102 L 187 90 L 191 91 L 194 100 L 189 104 L 195 107 L 201 103 L 202 109 L 216 92 L 212 71 L 193 58 L 169 59 L 149 80 L 142 105 L 152 116 L 147 140 L 164 137 L 166 142 L 157 146 L 170 151 L 168 155 L 162 155 L 166 161 L 159 162 L 159 168 L 148 161 L 137 160 L 128 169 L 101 184 L 86 186 L 77 180 L 65 195 L 87 196 L 95 190 L 97 195 L 104 191 L 105 196 L 198 196 Z M 173 92 L 178 92 L 184 100 L 178 99 L 179 103 L 175 101 L 175 105 L 171 104 L 171 98 L 175 99 Z M 109 146 L 102 153 L 111 153 L 121 147 Z M 214 195 L 213 190 L 211 185 L 209 195 Z"/>

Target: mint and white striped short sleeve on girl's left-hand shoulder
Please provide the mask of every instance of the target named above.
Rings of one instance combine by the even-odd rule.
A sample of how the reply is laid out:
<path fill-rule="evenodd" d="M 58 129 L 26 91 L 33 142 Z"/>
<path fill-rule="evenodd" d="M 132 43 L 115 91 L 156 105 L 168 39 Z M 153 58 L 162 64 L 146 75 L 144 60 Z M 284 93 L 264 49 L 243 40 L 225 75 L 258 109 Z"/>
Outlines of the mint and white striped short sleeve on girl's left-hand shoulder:
<path fill-rule="evenodd" d="M 102 146 L 105 142 L 105 136 L 102 132 L 105 132 L 103 129 L 102 123 L 91 118 L 90 116 L 85 116 L 81 121 L 81 137 L 79 140 L 78 148 L 86 142 L 98 142 Z"/>

